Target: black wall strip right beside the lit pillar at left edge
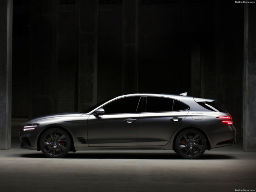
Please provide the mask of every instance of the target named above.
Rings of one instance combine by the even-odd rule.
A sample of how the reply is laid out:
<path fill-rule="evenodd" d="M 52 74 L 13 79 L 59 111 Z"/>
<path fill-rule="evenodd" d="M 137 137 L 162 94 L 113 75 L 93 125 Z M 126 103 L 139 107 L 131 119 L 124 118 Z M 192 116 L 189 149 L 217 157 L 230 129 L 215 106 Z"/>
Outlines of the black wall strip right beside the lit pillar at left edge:
<path fill-rule="evenodd" d="M 29 4 L 13 7 L 12 116 L 28 117 L 29 111 Z M 26 74 L 26 75 L 24 75 Z"/>

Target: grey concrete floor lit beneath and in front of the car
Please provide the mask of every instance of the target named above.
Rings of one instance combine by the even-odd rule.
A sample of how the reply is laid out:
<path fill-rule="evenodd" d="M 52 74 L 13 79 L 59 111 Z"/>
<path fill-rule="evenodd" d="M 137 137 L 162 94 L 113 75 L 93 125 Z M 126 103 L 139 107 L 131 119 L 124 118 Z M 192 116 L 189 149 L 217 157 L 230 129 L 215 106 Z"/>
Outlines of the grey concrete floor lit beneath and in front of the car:
<path fill-rule="evenodd" d="M 77 151 L 66 158 L 19 148 L 20 120 L 12 124 L 12 149 L 0 150 L 1 192 L 137 192 L 256 190 L 256 152 L 235 146 L 184 160 L 173 151 Z"/>

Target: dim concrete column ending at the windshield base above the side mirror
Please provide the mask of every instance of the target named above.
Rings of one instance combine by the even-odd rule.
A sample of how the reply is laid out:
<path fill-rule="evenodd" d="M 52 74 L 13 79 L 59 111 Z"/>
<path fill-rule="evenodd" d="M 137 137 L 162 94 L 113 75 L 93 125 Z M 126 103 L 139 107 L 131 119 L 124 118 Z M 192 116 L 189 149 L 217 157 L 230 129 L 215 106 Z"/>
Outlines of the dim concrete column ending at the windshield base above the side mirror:
<path fill-rule="evenodd" d="M 98 1 L 79 1 L 78 111 L 97 102 Z"/>

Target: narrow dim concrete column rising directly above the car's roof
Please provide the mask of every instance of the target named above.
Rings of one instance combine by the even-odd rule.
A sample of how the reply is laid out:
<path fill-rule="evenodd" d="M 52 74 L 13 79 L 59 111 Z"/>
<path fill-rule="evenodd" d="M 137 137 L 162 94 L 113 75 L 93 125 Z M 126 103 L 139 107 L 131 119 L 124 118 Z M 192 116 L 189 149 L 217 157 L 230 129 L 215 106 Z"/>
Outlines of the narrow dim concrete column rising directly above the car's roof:
<path fill-rule="evenodd" d="M 123 93 L 138 92 L 138 0 L 123 1 Z"/>

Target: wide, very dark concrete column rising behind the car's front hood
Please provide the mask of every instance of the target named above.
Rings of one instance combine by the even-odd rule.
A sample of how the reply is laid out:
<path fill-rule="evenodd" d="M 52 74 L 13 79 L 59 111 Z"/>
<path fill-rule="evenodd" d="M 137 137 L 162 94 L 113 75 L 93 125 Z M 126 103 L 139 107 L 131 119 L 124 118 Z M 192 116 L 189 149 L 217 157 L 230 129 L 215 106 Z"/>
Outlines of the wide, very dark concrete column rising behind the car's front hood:
<path fill-rule="evenodd" d="M 30 1 L 29 118 L 57 112 L 58 1 Z"/>

